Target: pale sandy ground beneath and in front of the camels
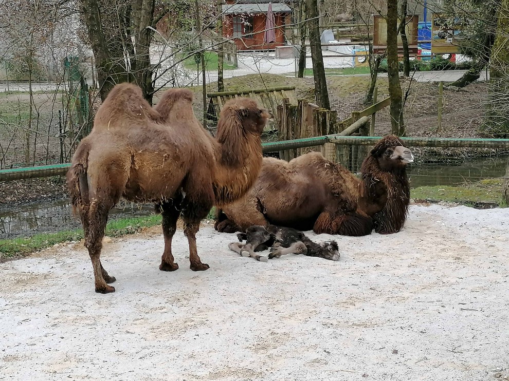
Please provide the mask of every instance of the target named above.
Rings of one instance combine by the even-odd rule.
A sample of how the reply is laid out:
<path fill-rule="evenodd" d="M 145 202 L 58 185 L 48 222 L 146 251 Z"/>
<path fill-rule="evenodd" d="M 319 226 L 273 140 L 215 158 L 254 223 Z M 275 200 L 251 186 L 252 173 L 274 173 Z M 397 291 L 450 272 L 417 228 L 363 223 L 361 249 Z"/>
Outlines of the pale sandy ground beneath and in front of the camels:
<path fill-rule="evenodd" d="M 317 241 L 329 236 L 314 236 Z M 341 260 L 268 263 L 201 229 L 211 269 L 158 270 L 160 234 L 114 240 L 93 289 L 81 244 L 0 264 L 0 379 L 509 379 L 509 209 L 412 205 Z"/>

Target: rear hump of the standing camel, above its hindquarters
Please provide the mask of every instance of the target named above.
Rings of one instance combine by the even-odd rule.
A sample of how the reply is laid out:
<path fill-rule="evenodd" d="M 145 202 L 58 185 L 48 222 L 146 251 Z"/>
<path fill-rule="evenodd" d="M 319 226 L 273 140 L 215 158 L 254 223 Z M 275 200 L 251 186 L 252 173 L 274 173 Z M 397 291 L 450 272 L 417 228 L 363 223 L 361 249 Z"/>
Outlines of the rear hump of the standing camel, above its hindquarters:
<path fill-rule="evenodd" d="M 119 120 L 146 121 L 147 119 L 157 121 L 160 115 L 143 98 L 141 88 L 132 83 L 120 83 L 108 93 L 97 110 L 94 128 L 115 127 L 119 125 L 117 123 Z"/>

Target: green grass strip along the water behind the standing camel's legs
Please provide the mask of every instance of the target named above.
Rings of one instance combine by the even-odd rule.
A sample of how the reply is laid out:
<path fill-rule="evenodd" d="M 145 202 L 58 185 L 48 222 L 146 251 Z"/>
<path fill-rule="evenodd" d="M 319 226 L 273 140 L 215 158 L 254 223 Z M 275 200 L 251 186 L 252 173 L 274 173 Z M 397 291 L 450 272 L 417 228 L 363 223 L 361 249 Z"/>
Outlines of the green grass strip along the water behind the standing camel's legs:
<path fill-rule="evenodd" d="M 106 225 L 106 235 L 118 237 L 133 234 L 141 231 L 142 227 L 155 226 L 160 223 L 160 215 L 112 220 Z M 0 253 L 7 258 L 20 257 L 46 249 L 56 243 L 78 241 L 82 238 L 83 230 L 77 229 L 58 233 L 36 234 L 28 238 L 2 239 L 0 240 Z"/>

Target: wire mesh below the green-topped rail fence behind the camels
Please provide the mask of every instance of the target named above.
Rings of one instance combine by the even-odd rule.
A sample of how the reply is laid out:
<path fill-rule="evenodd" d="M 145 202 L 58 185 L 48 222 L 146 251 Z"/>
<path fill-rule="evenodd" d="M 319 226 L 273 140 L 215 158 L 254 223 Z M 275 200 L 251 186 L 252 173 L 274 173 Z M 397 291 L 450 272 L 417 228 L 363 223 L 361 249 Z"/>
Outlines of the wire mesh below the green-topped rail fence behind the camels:
<path fill-rule="evenodd" d="M 328 143 L 331 145 L 331 143 Z M 329 160 L 359 173 L 370 146 L 324 144 L 295 148 L 296 155 L 310 150 L 321 151 Z M 416 200 L 460 202 L 479 207 L 502 203 L 502 187 L 509 160 L 509 150 L 474 147 L 412 147 L 415 162 L 408 167 L 411 197 Z M 348 155 L 345 153 L 348 152 Z M 279 151 L 264 156 L 279 157 Z M 347 158 L 347 159 L 345 159 Z M 25 183 L 39 179 L 18 180 Z M 60 188 L 63 178 L 59 181 Z M 28 185 L 30 188 L 30 185 Z M 55 185 L 58 188 L 57 185 Z M 207 217 L 213 219 L 213 212 Z M 160 224 L 153 204 L 121 202 L 110 213 L 106 235 L 139 233 L 148 226 Z M 158 232 L 158 230 L 157 230 Z M 13 203 L 0 211 L 0 252 L 28 252 L 40 246 L 82 238 L 81 224 L 72 213 L 68 199 L 50 197 L 42 202 Z"/>

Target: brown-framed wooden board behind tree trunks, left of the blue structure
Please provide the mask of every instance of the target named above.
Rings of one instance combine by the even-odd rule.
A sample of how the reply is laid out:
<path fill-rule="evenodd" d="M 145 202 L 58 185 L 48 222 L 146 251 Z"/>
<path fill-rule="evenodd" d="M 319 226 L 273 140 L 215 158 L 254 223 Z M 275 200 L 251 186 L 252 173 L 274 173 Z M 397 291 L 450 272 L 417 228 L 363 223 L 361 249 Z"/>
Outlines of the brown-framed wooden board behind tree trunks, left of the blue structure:
<path fill-rule="evenodd" d="M 397 21 L 399 25 L 399 20 Z M 405 32 L 408 39 L 408 49 L 410 54 L 417 54 L 417 33 L 419 30 L 419 15 L 407 16 Z M 387 21 L 385 17 L 379 14 L 373 15 L 373 53 L 383 53 L 387 49 Z M 403 54 L 403 42 L 401 34 L 397 35 L 397 51 Z"/>

